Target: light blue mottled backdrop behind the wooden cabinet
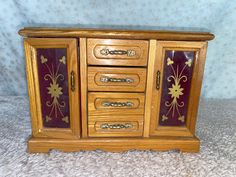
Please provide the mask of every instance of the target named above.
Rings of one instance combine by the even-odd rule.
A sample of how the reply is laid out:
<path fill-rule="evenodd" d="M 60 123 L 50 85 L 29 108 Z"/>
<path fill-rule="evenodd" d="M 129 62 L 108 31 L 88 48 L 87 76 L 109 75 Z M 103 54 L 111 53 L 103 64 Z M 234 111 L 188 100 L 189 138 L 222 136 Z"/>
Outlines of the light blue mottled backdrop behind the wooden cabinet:
<path fill-rule="evenodd" d="M 202 97 L 236 97 L 235 0 L 0 0 L 0 95 L 27 95 L 20 28 L 80 24 L 206 28 Z"/>

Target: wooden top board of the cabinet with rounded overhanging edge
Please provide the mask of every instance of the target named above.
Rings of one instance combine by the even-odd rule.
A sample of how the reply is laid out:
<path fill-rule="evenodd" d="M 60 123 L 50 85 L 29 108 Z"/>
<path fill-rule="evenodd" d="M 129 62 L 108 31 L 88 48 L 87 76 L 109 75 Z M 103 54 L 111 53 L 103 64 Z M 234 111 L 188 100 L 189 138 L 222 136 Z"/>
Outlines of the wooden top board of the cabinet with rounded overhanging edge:
<path fill-rule="evenodd" d="M 165 28 L 166 29 L 166 28 Z M 106 27 L 106 28 L 48 28 L 27 27 L 19 30 L 24 37 L 93 37 L 112 39 L 158 39 L 209 41 L 214 35 L 199 28 Z"/>

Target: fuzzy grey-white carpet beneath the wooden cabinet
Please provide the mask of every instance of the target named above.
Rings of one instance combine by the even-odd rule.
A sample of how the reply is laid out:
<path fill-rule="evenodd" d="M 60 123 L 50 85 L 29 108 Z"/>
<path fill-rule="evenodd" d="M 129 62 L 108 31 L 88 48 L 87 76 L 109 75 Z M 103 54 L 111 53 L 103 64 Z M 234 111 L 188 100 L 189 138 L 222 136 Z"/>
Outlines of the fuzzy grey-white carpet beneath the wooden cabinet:
<path fill-rule="evenodd" d="M 0 176 L 235 177 L 236 100 L 202 100 L 197 123 L 201 152 L 89 151 L 28 154 L 26 97 L 0 97 Z"/>

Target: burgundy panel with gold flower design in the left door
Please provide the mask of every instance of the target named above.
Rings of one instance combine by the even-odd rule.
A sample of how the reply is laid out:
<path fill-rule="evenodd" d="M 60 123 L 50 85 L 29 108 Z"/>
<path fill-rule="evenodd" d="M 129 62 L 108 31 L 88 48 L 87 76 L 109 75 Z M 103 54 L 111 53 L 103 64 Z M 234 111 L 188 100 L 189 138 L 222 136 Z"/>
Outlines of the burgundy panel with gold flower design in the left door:
<path fill-rule="evenodd" d="M 69 128 L 66 48 L 37 49 L 43 126 Z"/>

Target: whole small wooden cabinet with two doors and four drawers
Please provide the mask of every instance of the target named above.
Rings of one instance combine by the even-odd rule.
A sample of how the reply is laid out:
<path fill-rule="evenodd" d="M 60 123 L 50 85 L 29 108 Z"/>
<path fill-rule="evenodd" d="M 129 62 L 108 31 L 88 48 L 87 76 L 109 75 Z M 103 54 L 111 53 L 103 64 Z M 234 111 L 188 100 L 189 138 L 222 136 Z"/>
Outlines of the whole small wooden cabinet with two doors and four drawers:
<path fill-rule="evenodd" d="M 24 28 L 29 152 L 198 152 L 208 32 Z"/>

